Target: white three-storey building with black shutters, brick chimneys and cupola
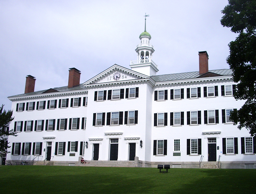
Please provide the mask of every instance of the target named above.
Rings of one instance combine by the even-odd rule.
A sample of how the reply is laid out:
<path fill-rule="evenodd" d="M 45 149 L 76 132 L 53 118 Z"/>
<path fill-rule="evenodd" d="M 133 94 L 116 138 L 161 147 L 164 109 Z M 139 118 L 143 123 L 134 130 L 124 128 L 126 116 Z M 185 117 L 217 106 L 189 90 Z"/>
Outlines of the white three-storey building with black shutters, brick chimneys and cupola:
<path fill-rule="evenodd" d="M 17 137 L 7 160 L 50 160 L 52 165 L 256 168 L 256 139 L 239 130 L 229 113 L 235 83 L 229 69 L 208 70 L 199 52 L 199 71 L 157 75 L 148 32 L 140 34 L 131 69 L 113 65 L 80 84 L 69 70 L 68 86 L 34 92 L 27 76 L 24 94 L 8 97 Z M 203 162 L 203 164 L 200 164 Z"/>

